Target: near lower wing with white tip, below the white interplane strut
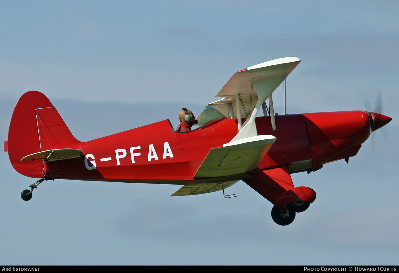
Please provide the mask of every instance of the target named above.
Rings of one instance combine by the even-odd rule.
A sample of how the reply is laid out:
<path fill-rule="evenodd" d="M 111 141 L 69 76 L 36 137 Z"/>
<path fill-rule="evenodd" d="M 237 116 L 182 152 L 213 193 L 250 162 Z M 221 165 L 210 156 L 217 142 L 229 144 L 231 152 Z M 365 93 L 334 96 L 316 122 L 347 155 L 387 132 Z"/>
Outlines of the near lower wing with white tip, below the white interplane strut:
<path fill-rule="evenodd" d="M 274 136 L 261 135 L 231 141 L 211 149 L 194 178 L 221 177 L 252 171 L 258 167 L 275 141 Z"/>

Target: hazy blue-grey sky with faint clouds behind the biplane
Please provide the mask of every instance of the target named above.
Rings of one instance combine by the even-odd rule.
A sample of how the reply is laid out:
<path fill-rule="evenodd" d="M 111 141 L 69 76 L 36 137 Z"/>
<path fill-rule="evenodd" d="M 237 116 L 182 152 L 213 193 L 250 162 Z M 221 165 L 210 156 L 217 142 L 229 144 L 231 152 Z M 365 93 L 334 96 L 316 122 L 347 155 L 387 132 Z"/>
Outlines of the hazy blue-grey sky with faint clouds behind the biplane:
<path fill-rule="evenodd" d="M 397 14 L 396 1 L 2 1 L 3 140 L 28 90 L 47 95 L 88 141 L 166 118 L 176 127 L 179 108 L 198 114 L 235 71 L 289 56 L 302 62 L 287 78 L 288 113 L 372 111 L 365 101 L 381 90 L 393 120 L 349 165 L 292 175 L 318 197 L 286 227 L 242 181 L 230 199 L 47 181 L 24 202 L 34 179 L 3 152 L 0 263 L 397 265 Z M 281 90 L 273 100 L 282 112 Z"/>

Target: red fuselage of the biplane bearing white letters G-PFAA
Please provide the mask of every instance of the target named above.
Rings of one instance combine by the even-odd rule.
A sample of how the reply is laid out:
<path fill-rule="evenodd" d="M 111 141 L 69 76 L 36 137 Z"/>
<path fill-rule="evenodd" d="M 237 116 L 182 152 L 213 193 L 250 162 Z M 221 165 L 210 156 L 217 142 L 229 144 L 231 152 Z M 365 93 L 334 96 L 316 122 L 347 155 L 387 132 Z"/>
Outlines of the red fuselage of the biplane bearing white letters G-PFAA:
<path fill-rule="evenodd" d="M 285 165 L 290 173 L 317 170 L 324 163 L 356 155 L 373 126 L 371 114 L 363 111 L 276 116 L 275 131 L 270 117 L 258 117 L 256 125 L 259 135 L 277 138 L 258 168 Z M 214 120 L 188 133 L 174 132 L 164 120 L 76 143 L 72 148 L 81 149 L 86 157 L 46 162 L 46 175 L 49 179 L 186 185 L 195 180 L 209 150 L 228 143 L 236 134 L 237 119 Z"/>

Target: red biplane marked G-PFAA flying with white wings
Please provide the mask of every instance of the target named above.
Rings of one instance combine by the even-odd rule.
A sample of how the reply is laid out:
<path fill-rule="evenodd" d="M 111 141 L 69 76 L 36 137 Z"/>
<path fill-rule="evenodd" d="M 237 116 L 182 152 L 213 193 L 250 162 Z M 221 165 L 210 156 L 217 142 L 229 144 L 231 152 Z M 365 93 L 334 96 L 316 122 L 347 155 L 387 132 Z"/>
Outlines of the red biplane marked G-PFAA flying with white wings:
<path fill-rule="evenodd" d="M 42 181 L 75 179 L 182 185 L 172 196 L 220 191 L 243 180 L 274 204 L 272 218 L 288 225 L 316 198 L 294 187 L 291 173 L 358 153 L 391 118 L 365 111 L 275 115 L 273 91 L 298 65 L 287 57 L 236 72 L 198 116 L 198 128 L 176 132 L 169 120 L 81 142 L 46 96 L 22 95 L 11 118 L 8 152 L 14 169 Z M 269 107 L 265 101 L 269 99 Z M 264 116 L 256 117 L 263 109 Z M 228 196 L 231 197 L 231 196 Z"/>

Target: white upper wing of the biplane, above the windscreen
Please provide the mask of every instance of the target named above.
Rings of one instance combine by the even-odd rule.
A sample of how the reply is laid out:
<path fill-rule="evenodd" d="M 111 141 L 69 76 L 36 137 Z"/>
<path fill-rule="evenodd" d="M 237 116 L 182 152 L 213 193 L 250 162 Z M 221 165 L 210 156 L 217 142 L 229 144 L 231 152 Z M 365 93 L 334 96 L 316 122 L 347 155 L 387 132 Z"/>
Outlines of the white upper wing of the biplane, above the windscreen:
<path fill-rule="evenodd" d="M 241 96 L 241 113 L 249 114 L 252 112 L 258 100 L 257 92 L 252 84 L 252 80 L 279 77 L 281 80 L 270 81 L 271 85 L 268 86 L 268 89 L 273 92 L 299 62 L 300 59 L 296 57 L 286 57 L 267 61 L 237 71 L 216 95 L 216 97 L 225 98 L 208 105 L 219 110 L 228 117 L 229 104 L 232 104 L 232 109 L 235 110 L 235 96 L 239 95 Z"/>

